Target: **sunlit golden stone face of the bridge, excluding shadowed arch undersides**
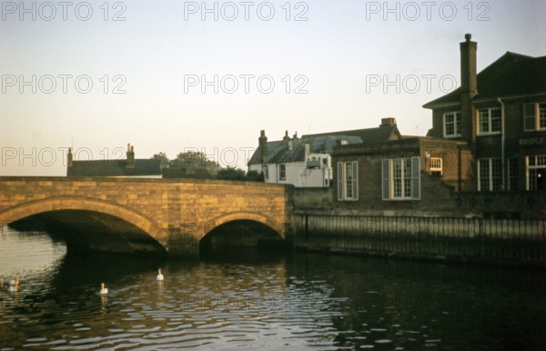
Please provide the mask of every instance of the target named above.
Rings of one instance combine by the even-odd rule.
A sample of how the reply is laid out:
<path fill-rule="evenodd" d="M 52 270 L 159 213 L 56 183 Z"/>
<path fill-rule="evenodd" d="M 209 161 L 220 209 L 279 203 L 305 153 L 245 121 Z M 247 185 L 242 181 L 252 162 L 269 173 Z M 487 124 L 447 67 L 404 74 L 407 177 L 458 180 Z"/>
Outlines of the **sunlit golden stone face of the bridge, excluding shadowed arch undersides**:
<path fill-rule="evenodd" d="M 0 177 L 0 227 L 35 215 L 50 215 L 62 224 L 75 213 L 94 214 L 105 216 L 99 219 L 103 224 L 114 226 L 109 218 L 129 224 L 133 232 L 154 238 L 169 256 L 197 257 L 199 241 L 231 221 L 261 223 L 284 239 L 288 198 L 288 187 L 263 183 L 5 176 Z"/>

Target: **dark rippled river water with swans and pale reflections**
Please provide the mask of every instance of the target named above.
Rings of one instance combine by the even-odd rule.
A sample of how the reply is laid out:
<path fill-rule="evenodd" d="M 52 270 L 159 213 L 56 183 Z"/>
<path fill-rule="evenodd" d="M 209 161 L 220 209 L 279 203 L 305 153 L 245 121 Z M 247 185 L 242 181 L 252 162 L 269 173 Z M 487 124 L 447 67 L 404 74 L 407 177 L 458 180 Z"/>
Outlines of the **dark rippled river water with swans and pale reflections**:
<path fill-rule="evenodd" d="M 18 291 L 0 289 L 0 350 L 546 349 L 539 271 L 248 250 L 70 255 L 4 227 L 0 276 L 16 274 Z"/>

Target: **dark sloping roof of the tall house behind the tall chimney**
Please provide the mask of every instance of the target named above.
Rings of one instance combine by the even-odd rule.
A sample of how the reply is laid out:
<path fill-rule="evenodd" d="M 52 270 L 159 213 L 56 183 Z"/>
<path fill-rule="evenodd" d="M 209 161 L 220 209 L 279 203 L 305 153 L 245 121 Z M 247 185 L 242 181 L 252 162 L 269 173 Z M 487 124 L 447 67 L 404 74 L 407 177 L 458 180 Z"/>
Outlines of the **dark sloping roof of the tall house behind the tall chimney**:
<path fill-rule="evenodd" d="M 546 93 L 546 56 L 502 55 L 477 75 L 478 95 L 472 101 Z M 435 108 L 460 104 L 460 87 L 423 105 Z"/>

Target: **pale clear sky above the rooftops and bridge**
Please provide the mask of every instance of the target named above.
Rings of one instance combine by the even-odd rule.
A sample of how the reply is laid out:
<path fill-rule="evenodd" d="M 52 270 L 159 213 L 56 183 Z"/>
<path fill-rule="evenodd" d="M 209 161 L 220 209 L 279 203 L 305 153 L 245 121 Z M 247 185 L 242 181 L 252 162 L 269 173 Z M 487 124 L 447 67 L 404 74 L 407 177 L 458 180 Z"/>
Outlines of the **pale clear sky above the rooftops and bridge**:
<path fill-rule="evenodd" d="M 197 149 L 247 169 L 262 129 L 395 117 L 425 135 L 421 106 L 460 84 L 466 33 L 479 71 L 507 51 L 546 55 L 541 0 L 1 5 L 0 176 L 65 176 L 68 146 L 82 160 Z"/>

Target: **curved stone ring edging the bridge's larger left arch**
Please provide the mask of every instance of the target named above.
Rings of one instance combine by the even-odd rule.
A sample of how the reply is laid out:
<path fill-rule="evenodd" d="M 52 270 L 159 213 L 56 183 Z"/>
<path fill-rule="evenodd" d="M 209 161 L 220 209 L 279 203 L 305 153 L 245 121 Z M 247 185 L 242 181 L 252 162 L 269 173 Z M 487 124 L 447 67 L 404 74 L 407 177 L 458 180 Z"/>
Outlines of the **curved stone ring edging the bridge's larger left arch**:
<path fill-rule="evenodd" d="M 124 206 L 86 197 L 55 197 L 18 204 L 0 212 L 0 225 L 59 211 L 86 211 L 115 217 L 151 236 L 161 246 L 165 247 L 167 244 L 168 232 L 156 221 Z"/>

